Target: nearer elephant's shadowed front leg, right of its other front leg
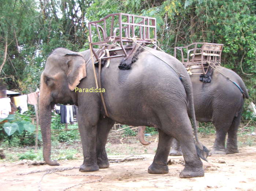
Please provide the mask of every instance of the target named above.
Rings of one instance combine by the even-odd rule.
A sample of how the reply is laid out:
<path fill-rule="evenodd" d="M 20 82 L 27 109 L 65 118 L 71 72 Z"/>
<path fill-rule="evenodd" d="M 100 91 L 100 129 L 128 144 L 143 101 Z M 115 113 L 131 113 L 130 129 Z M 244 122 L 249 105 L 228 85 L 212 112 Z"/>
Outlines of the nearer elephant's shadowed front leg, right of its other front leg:
<path fill-rule="evenodd" d="M 108 117 L 100 117 L 100 120 L 97 125 L 97 138 L 96 138 L 96 155 L 97 155 L 97 164 L 99 168 L 108 168 L 110 163 L 108 162 L 108 156 L 106 153 L 106 143 L 108 139 L 108 133 L 114 125 L 115 121 L 111 120 Z"/>

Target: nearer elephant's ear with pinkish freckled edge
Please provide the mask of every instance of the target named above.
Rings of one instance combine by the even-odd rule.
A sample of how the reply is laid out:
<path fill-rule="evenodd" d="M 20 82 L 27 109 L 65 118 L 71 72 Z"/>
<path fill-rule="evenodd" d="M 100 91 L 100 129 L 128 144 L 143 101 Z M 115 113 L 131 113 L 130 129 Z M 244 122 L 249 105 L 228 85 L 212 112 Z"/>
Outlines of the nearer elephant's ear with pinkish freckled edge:
<path fill-rule="evenodd" d="M 69 89 L 74 91 L 80 80 L 86 77 L 85 58 L 79 53 L 67 53 L 64 56 L 70 56 L 67 62 L 67 79 Z"/>

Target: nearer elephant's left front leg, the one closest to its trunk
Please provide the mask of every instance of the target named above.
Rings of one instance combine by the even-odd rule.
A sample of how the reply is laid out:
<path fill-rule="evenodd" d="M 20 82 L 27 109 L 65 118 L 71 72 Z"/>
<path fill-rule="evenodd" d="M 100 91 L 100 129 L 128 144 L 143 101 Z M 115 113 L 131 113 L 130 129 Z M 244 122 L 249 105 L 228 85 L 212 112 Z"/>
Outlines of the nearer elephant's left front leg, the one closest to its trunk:
<path fill-rule="evenodd" d="M 84 116 L 78 115 L 78 127 L 81 136 L 84 163 L 80 166 L 81 172 L 93 172 L 99 170 L 99 165 L 96 159 L 96 133 L 97 125 L 85 119 Z M 97 124 L 97 123 L 96 123 Z"/>

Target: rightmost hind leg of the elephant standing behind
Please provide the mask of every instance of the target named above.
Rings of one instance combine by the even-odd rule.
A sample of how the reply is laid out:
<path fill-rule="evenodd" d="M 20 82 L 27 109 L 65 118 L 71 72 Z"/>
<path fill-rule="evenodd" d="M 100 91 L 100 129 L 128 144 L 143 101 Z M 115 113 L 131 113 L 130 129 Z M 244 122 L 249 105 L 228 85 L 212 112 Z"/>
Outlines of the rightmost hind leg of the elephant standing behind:
<path fill-rule="evenodd" d="M 232 124 L 228 130 L 226 154 L 238 153 L 237 145 L 237 130 L 240 125 L 242 112 L 238 113 L 237 117 L 234 117 Z"/>

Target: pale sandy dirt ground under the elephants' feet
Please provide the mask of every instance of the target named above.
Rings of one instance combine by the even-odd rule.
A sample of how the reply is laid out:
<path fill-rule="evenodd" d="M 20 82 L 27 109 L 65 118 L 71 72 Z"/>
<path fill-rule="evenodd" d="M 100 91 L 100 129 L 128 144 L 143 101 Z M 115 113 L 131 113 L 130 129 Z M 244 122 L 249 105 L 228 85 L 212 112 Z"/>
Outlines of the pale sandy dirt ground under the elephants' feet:
<path fill-rule="evenodd" d="M 238 137 L 240 142 L 246 137 Z M 245 190 L 256 191 L 256 144 L 253 140 L 252 146 L 241 145 L 240 153 L 232 155 L 213 155 L 208 157 L 208 162 L 203 161 L 205 176 L 200 178 L 181 179 L 179 172 L 183 167 L 182 156 L 169 156 L 172 164 L 169 165 L 169 174 L 153 175 L 148 174 L 147 169 L 155 156 L 157 147 L 156 136 L 148 138 L 153 143 L 142 146 L 137 141 L 119 140 L 112 141 L 111 148 L 129 148 L 129 151 L 136 153 L 136 149 L 144 149 L 146 154 L 140 154 L 139 160 L 111 163 L 109 168 L 100 169 L 96 172 L 82 173 L 78 167 L 82 164 L 82 157 L 79 160 L 60 161 L 57 168 L 70 168 L 63 172 L 45 174 L 38 172 L 27 175 L 31 171 L 43 171 L 54 169 L 49 165 L 27 165 L 18 163 L 0 163 L 0 190 L 97 190 L 97 191 L 129 191 L 129 190 Z M 214 136 L 201 137 L 200 140 L 211 149 Z M 110 141 L 111 142 L 111 141 Z M 136 143 L 133 143 L 136 142 Z M 131 149 L 134 148 L 134 149 Z M 108 155 L 112 161 L 135 159 L 131 155 Z M 145 158 L 143 158 L 145 157 Z M 49 171 L 48 171 L 49 172 Z M 44 175 L 45 174 L 45 175 Z M 44 175 L 44 176 L 43 176 Z M 63 176 L 65 175 L 65 176 Z M 68 176 L 67 176 L 68 175 Z M 40 183 L 41 181 L 41 183 Z M 89 182 L 89 183 L 88 183 Z M 79 185 L 78 185 L 79 184 Z M 83 184 L 83 185 L 81 185 Z M 77 185 L 77 186 L 75 186 Z"/>

